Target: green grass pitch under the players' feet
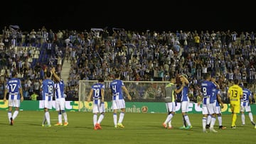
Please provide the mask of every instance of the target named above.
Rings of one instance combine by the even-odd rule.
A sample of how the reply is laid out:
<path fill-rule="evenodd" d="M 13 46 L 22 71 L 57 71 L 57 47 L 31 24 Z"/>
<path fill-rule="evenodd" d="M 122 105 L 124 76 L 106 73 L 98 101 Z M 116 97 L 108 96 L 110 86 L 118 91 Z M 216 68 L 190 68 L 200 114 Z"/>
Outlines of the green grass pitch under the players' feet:
<path fill-rule="evenodd" d="M 43 111 L 20 111 L 9 125 L 7 111 L 0 111 L 1 143 L 255 143 L 256 129 L 245 115 L 246 125 L 241 126 L 238 115 L 237 128 L 231 129 L 231 115 L 223 115 L 225 130 L 218 133 L 202 132 L 202 115 L 188 113 L 193 128 L 178 129 L 182 126 L 181 113 L 172 119 L 174 129 L 163 128 L 166 113 L 125 113 L 125 128 L 114 128 L 112 113 L 105 113 L 102 130 L 95 131 L 92 126 L 92 113 L 68 111 L 68 126 L 53 126 L 57 123 L 58 113 L 50 111 L 52 127 L 42 127 Z M 118 113 L 119 115 L 119 113 Z M 256 118 L 255 118 L 256 120 Z"/>

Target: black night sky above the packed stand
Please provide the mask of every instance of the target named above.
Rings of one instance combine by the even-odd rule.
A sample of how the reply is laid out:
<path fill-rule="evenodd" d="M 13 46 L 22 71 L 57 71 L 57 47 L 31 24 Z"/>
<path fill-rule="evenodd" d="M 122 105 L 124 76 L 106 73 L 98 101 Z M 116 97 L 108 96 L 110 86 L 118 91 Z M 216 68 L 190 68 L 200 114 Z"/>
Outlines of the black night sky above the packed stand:
<path fill-rule="evenodd" d="M 155 31 L 255 31 L 251 2 L 227 1 L 6 1 L 1 26 L 18 25 L 23 31 L 90 28 Z"/>

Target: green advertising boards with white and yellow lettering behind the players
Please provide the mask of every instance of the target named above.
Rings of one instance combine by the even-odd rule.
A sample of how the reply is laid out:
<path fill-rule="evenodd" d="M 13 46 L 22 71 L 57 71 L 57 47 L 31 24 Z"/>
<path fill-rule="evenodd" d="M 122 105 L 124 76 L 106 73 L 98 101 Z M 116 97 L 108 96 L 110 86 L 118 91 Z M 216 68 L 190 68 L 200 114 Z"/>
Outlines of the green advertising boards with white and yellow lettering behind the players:
<path fill-rule="evenodd" d="M 21 103 L 21 111 L 43 111 L 43 101 L 23 101 Z M 106 112 L 112 112 L 112 102 L 105 101 Z M 252 113 L 256 114 L 256 105 L 252 104 Z M 85 111 L 92 112 L 92 102 L 87 101 L 65 101 L 66 111 Z M 0 110 L 8 110 L 8 103 L 0 100 Z M 55 111 L 55 101 L 53 101 L 53 109 Z M 127 113 L 166 113 L 166 105 L 164 102 L 126 102 Z M 231 113 L 230 104 L 224 104 L 221 109 L 223 114 Z M 176 113 L 181 113 L 181 103 L 176 104 Z M 189 104 L 189 113 L 202 113 L 202 106 L 191 102 Z"/>

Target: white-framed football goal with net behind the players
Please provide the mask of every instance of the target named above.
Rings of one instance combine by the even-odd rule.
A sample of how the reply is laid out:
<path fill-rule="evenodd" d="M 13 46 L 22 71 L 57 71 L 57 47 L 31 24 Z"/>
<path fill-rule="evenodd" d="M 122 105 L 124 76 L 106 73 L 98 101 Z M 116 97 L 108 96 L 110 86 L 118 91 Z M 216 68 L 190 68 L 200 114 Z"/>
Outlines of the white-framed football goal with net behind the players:
<path fill-rule="evenodd" d="M 89 95 L 92 84 L 97 80 L 80 80 L 79 82 L 79 103 L 78 111 L 86 111 L 86 107 L 90 107 L 87 103 L 87 96 Z M 110 82 L 105 81 L 105 101 L 112 101 L 110 90 Z M 123 81 L 129 94 L 132 96 L 134 102 L 163 102 L 164 101 L 164 87 L 169 82 L 166 81 Z M 125 94 L 124 94 L 125 96 Z"/>

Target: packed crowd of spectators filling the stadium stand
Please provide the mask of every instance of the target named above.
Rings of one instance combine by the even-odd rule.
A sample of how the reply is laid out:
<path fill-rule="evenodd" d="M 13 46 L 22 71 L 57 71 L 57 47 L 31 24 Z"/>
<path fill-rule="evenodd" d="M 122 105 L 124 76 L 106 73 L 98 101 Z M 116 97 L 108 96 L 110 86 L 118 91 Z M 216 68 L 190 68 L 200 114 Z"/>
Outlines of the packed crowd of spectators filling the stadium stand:
<path fill-rule="evenodd" d="M 233 79 L 239 79 L 248 84 L 255 102 L 253 31 L 52 31 L 43 26 L 27 32 L 5 27 L 0 49 L 1 96 L 14 70 L 22 79 L 25 97 L 35 91 L 40 95 L 38 79 L 51 67 L 61 72 L 67 60 L 72 66 L 65 89 L 68 99 L 78 99 L 80 79 L 112 80 L 115 72 L 121 72 L 125 81 L 167 81 L 171 74 L 186 74 L 190 97 L 196 101 L 199 83 L 210 72 L 220 84 L 223 101 L 228 100 L 226 93 Z"/>

